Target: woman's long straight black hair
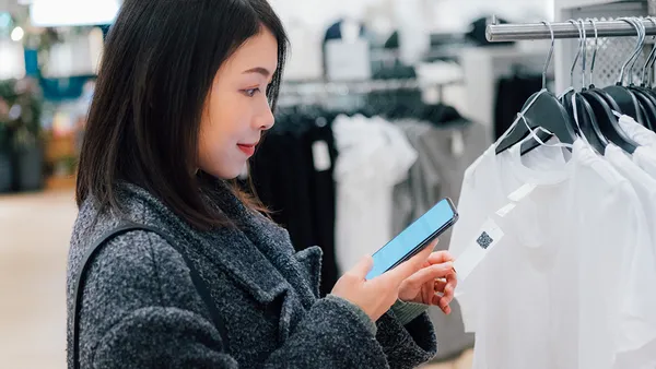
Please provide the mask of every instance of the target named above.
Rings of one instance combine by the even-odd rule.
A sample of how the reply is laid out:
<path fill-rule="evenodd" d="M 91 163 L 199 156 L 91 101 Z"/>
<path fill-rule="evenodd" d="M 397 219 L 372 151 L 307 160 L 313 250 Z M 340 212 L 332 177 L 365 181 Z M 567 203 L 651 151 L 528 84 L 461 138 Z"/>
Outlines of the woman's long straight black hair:
<path fill-rule="evenodd" d="M 197 167 L 203 106 L 222 63 L 262 29 L 288 39 L 267 0 L 126 0 L 112 26 L 80 155 L 77 202 L 121 211 L 116 183 L 138 184 L 198 228 L 226 224 L 203 202 Z M 235 192 L 250 207 L 258 202 Z"/>

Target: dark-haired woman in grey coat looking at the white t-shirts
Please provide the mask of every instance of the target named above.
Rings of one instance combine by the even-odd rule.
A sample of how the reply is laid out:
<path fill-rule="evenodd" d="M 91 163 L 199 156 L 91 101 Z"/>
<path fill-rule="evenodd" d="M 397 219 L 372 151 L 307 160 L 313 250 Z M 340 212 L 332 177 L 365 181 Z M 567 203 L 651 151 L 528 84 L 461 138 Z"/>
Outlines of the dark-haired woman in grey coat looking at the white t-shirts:
<path fill-rule="evenodd" d="M 286 231 L 227 182 L 273 126 L 285 50 L 266 0 L 125 1 L 80 157 L 69 368 L 412 368 L 435 354 L 424 310 L 449 312 L 447 253 L 429 248 L 365 282 L 366 257 L 319 298 L 320 250 L 294 253 Z M 86 252 L 125 221 L 162 235 L 104 242 L 77 308 Z"/>

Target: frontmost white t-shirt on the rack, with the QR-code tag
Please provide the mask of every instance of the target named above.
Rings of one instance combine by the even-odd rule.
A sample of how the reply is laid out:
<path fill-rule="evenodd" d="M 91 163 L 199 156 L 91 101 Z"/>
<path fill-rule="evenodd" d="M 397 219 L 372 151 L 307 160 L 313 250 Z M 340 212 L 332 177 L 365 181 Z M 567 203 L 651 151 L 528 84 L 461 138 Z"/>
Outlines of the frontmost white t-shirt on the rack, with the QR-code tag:
<path fill-rule="evenodd" d="M 645 219 L 629 181 L 581 140 L 570 159 L 557 147 L 490 147 L 466 172 L 450 250 L 457 258 L 526 182 L 532 193 L 496 219 L 504 238 L 458 286 L 475 368 L 610 368 L 621 294 L 609 290 L 625 286 Z"/>

